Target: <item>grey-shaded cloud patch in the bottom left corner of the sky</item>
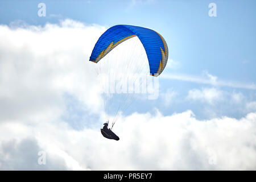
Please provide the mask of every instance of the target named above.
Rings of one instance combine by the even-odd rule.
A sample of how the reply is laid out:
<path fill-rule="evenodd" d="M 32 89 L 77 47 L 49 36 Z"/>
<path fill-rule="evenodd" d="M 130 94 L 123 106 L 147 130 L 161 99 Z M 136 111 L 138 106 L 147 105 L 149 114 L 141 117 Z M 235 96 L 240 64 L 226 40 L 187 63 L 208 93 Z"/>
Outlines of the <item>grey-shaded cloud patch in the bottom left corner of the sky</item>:
<path fill-rule="evenodd" d="M 67 170 L 65 161 L 59 155 L 47 156 L 47 165 L 38 163 L 39 151 L 42 148 L 33 138 L 17 139 L 0 143 L 1 170 Z"/>

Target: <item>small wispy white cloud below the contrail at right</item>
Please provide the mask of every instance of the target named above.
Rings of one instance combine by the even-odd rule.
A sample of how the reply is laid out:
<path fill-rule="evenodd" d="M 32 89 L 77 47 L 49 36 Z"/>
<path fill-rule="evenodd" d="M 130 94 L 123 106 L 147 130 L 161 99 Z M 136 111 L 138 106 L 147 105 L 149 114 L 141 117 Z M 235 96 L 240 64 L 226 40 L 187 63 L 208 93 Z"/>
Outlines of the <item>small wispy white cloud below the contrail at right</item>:
<path fill-rule="evenodd" d="M 218 101 L 224 100 L 223 92 L 216 88 L 192 89 L 188 91 L 188 100 L 207 102 L 215 104 Z"/>

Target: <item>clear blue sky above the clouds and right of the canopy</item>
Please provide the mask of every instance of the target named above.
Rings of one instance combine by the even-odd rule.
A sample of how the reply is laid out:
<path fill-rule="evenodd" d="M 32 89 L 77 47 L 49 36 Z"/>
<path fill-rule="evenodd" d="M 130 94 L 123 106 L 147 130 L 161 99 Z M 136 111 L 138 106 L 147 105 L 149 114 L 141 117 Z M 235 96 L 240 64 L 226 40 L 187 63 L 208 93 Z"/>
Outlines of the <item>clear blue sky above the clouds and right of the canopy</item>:
<path fill-rule="evenodd" d="M 46 3 L 46 17 L 37 15 L 37 5 Z M 256 67 L 256 26 L 254 1 L 214 1 L 217 17 L 208 16 L 212 1 L 1 1 L 0 23 L 11 24 L 22 20 L 28 24 L 44 26 L 61 19 L 73 19 L 85 24 L 111 27 L 115 24 L 133 24 L 150 27 L 160 32 L 169 47 L 169 59 L 179 66 L 166 69 L 163 74 L 202 76 L 204 72 L 225 81 L 253 84 Z M 160 78 L 161 91 L 172 88 L 179 92 L 178 102 L 168 107 L 156 103 L 164 114 L 192 109 L 197 117 L 205 106 L 189 105 L 183 98 L 189 89 L 209 85 Z M 227 88 L 228 92 L 241 92 L 254 100 L 254 90 Z M 182 98 L 179 98 L 182 97 Z M 184 104 L 185 102 L 185 104 Z M 148 103 L 139 103 L 148 111 Z M 151 102 L 152 104 L 152 102 Z M 221 103 L 220 105 L 226 105 Z M 229 107 L 229 106 L 226 106 Z M 217 111 L 217 110 L 216 110 Z M 241 111 L 225 109 L 222 114 L 242 117 Z M 220 114 L 221 114 L 220 113 Z M 221 114 L 221 115 L 222 115 Z M 220 115 L 220 116 L 221 116 Z"/>

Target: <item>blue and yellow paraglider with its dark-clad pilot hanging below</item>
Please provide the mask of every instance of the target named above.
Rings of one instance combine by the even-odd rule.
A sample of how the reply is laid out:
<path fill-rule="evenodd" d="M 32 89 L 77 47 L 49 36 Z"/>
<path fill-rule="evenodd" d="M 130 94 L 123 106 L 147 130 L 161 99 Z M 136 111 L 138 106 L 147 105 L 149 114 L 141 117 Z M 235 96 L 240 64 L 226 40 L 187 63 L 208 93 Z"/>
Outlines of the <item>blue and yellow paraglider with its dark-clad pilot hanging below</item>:
<path fill-rule="evenodd" d="M 135 36 L 137 36 L 138 39 L 141 41 L 144 50 L 146 51 L 150 75 L 159 76 L 163 72 L 167 64 L 168 47 L 163 36 L 149 28 L 130 26 L 124 24 L 110 27 L 98 39 L 97 43 L 93 48 L 92 55 L 90 56 L 89 61 L 98 63 L 98 61 L 105 57 L 119 44 L 125 42 L 128 39 L 134 38 Z M 120 61 L 122 60 L 118 60 L 118 63 Z M 118 110 L 119 109 L 120 107 L 118 107 Z M 117 112 L 115 114 L 117 114 Z M 112 123 L 112 127 L 114 123 L 115 116 L 114 121 Z M 117 139 L 118 137 L 111 131 L 111 129 L 108 129 L 108 123 L 104 123 L 104 125 L 105 126 L 103 127 L 103 129 L 101 129 L 102 135 L 109 139 Z"/>

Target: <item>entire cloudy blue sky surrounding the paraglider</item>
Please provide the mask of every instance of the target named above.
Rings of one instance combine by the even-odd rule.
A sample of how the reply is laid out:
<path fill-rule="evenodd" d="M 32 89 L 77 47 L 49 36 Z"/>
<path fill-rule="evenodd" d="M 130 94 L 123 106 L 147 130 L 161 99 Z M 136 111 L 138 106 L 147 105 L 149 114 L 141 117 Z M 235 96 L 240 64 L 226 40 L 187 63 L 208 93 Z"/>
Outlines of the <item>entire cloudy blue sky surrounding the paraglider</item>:
<path fill-rule="evenodd" d="M 255 3 L 1 1 L 0 169 L 255 170 Z M 158 97 L 135 94 L 118 113 L 118 142 L 100 133 L 104 64 L 89 62 L 116 24 L 151 28 L 169 50 Z M 138 41 L 104 59 L 146 65 Z"/>

